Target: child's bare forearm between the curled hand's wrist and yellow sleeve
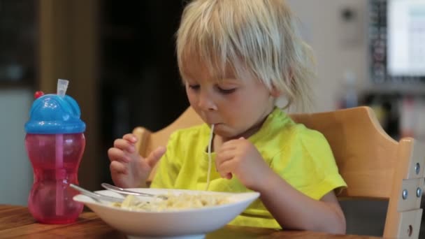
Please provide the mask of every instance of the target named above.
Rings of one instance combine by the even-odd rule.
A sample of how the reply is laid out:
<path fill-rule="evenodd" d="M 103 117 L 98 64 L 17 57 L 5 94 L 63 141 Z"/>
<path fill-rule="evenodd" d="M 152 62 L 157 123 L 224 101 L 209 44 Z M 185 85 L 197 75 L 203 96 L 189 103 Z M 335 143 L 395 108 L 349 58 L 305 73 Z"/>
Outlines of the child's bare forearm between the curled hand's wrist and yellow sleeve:
<path fill-rule="evenodd" d="M 273 171 L 267 173 L 258 187 L 261 201 L 285 229 L 345 233 L 345 216 L 333 191 L 316 201 Z"/>

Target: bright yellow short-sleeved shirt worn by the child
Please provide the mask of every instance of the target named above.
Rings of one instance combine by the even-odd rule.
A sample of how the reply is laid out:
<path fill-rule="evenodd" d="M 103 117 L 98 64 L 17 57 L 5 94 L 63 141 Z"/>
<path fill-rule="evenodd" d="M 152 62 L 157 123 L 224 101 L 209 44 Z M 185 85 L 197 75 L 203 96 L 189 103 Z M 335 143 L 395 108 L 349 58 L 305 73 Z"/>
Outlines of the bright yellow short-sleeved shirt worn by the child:
<path fill-rule="evenodd" d="M 210 128 L 206 124 L 175 131 L 168 142 L 166 154 L 159 161 L 151 187 L 205 190 L 209 135 Z M 248 140 L 257 147 L 275 173 L 311 198 L 319 200 L 329 191 L 347 186 L 338 173 L 331 148 L 322 133 L 296 124 L 278 108 L 268 115 L 261 129 Z M 212 153 L 208 190 L 250 191 L 236 177 L 231 180 L 220 177 L 215 171 L 215 153 Z M 281 229 L 259 199 L 229 224 Z"/>

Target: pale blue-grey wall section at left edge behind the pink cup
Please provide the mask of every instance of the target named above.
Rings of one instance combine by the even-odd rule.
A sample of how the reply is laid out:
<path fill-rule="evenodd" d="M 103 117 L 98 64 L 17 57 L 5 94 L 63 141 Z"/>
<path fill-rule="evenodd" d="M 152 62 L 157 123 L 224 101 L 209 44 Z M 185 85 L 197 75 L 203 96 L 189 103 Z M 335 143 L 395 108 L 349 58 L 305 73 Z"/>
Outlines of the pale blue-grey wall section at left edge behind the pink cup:
<path fill-rule="evenodd" d="M 29 89 L 0 89 L 0 204 L 27 205 L 33 174 L 24 124 L 32 101 Z"/>

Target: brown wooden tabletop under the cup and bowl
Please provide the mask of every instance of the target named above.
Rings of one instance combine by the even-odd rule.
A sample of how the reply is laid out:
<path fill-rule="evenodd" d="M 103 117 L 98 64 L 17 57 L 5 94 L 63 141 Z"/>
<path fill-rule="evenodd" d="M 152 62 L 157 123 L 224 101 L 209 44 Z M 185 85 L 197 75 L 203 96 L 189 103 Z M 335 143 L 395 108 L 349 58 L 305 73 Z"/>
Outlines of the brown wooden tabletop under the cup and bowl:
<path fill-rule="evenodd" d="M 72 224 L 39 224 L 28 208 L 0 205 L 0 238 L 126 238 L 103 222 L 94 212 L 82 212 Z M 375 238 L 368 236 L 331 235 L 312 231 L 277 231 L 273 229 L 224 226 L 206 238 Z"/>

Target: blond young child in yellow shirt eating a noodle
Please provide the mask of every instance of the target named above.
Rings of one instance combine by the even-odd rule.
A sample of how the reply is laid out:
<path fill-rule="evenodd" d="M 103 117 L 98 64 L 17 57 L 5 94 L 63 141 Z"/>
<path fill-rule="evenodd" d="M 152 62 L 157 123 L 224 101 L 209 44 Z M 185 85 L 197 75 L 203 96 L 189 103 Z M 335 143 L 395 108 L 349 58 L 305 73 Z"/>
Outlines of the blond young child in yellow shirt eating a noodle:
<path fill-rule="evenodd" d="M 113 182 L 138 187 L 160 159 L 151 187 L 259 191 L 230 224 L 345 233 L 334 190 L 346 184 L 329 144 L 275 107 L 279 97 L 287 106 L 305 102 L 312 77 L 310 48 L 284 0 L 191 1 L 177 56 L 189 103 L 205 124 L 176 131 L 146 158 L 133 135 L 115 140 Z"/>

